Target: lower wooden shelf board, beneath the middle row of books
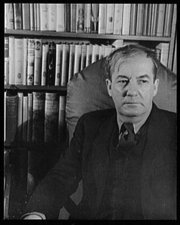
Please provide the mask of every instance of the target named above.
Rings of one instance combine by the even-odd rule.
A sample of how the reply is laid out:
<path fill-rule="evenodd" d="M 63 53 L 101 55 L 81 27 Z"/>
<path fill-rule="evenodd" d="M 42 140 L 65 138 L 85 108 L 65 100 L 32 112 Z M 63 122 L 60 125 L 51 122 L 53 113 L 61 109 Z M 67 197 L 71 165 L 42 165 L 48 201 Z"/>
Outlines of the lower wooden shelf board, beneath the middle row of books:
<path fill-rule="evenodd" d="M 67 92 L 63 86 L 39 86 L 39 85 L 4 85 L 4 90 L 25 91 L 25 92 Z"/>

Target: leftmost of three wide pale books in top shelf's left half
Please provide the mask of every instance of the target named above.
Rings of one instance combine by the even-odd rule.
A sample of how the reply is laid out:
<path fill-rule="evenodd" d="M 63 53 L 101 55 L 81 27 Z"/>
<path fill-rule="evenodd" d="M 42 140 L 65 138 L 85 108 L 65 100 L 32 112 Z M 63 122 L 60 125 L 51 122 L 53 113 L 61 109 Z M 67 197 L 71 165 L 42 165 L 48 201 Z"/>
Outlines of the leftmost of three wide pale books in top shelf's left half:
<path fill-rule="evenodd" d="M 40 30 L 48 30 L 48 4 L 40 4 Z"/>

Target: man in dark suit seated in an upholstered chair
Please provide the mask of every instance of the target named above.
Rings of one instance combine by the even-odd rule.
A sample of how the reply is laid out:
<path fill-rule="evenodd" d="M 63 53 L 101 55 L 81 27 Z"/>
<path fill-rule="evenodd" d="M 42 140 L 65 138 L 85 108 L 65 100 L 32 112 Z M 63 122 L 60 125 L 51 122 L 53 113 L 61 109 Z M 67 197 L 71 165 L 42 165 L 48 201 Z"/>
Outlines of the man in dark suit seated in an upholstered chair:
<path fill-rule="evenodd" d="M 107 57 L 115 109 L 84 114 L 70 149 L 33 193 L 25 219 L 55 219 L 83 182 L 72 219 L 176 219 L 176 114 L 153 103 L 158 61 L 138 45 Z"/>

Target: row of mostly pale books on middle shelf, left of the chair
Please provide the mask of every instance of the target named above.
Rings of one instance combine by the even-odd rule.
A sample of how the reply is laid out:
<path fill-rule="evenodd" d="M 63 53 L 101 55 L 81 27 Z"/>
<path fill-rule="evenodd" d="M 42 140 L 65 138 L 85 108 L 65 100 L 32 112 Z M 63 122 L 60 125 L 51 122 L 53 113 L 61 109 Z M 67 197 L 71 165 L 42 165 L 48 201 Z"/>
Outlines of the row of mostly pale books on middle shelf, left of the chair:
<path fill-rule="evenodd" d="M 5 37 L 5 84 L 66 86 L 73 74 L 107 56 L 115 47 L 43 43 L 41 39 Z"/>

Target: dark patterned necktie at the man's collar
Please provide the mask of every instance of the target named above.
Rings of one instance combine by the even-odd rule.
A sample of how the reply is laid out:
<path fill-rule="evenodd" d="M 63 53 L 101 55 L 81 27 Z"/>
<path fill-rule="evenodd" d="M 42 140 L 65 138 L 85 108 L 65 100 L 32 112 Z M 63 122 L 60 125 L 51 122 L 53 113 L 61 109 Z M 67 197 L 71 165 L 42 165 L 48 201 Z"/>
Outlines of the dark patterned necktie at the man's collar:
<path fill-rule="evenodd" d="M 123 123 L 121 126 L 121 138 L 118 147 L 130 148 L 136 145 L 134 127 L 132 123 Z"/>

